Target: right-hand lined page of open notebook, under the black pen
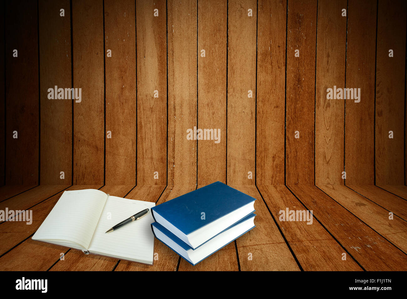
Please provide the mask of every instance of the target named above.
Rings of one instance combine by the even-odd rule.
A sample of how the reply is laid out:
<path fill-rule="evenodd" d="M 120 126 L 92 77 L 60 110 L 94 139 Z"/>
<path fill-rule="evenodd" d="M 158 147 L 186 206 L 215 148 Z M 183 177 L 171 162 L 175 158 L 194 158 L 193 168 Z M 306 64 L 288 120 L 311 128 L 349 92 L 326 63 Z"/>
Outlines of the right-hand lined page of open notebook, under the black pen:
<path fill-rule="evenodd" d="M 151 223 L 154 219 L 151 215 L 151 207 L 154 206 L 155 203 L 148 201 L 108 196 L 89 252 L 152 264 L 154 235 Z M 147 208 L 150 211 L 146 216 L 105 233 L 119 222 Z"/>

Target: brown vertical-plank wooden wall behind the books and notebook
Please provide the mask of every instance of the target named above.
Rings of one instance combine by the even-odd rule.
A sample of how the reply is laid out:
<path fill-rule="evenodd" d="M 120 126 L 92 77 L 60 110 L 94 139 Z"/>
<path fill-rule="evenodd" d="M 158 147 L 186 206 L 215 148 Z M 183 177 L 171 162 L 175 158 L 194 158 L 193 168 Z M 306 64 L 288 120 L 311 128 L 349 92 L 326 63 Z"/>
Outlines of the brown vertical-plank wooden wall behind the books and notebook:
<path fill-rule="evenodd" d="M 193 3 L 201 10 L 186 13 L 180 22 L 191 28 L 177 35 L 177 15 Z M 322 0 L 319 34 L 316 3 L 288 4 L 299 17 L 275 1 L 186 2 L 173 14 L 171 1 L 40 0 L 37 20 L 30 2 L 38 33 L 30 26 L 18 38 L 26 19 L 4 30 L 0 182 L 403 186 L 405 4 Z M 64 16 L 55 13 L 61 8 Z M 28 52 L 12 57 L 17 46 Z M 81 103 L 48 99 L 55 85 L 81 88 Z M 360 103 L 327 100 L 334 85 L 361 88 Z M 221 142 L 187 140 L 195 126 L 220 129 Z M 13 128 L 22 130 L 18 139 Z M 137 165 L 149 171 L 137 175 Z"/>

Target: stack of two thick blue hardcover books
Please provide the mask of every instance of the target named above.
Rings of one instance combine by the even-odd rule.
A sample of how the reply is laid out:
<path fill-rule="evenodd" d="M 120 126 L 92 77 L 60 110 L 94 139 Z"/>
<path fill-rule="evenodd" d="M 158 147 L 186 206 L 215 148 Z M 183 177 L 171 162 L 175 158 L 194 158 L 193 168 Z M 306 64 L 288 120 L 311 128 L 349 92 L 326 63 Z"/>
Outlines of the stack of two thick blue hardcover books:
<path fill-rule="evenodd" d="M 192 265 L 255 227 L 254 201 L 215 182 L 151 208 L 154 236 Z"/>

